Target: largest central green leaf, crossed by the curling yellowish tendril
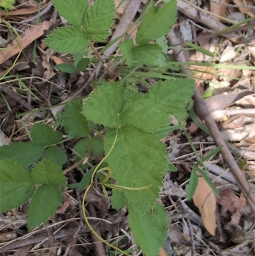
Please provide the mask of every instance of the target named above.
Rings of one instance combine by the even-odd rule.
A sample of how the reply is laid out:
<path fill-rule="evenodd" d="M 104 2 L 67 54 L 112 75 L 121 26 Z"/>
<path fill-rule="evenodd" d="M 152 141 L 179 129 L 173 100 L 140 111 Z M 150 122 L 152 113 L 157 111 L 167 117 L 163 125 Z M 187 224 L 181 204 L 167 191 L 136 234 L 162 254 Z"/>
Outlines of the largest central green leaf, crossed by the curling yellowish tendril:
<path fill-rule="evenodd" d="M 110 129 L 105 137 L 105 153 L 112 147 L 115 129 Z M 148 190 L 124 191 L 129 204 L 149 210 L 159 197 L 159 188 L 163 186 L 163 174 L 166 173 L 168 160 L 164 144 L 155 135 L 135 126 L 122 126 L 112 152 L 106 158 L 112 169 L 116 185 L 129 188 L 149 186 Z"/>

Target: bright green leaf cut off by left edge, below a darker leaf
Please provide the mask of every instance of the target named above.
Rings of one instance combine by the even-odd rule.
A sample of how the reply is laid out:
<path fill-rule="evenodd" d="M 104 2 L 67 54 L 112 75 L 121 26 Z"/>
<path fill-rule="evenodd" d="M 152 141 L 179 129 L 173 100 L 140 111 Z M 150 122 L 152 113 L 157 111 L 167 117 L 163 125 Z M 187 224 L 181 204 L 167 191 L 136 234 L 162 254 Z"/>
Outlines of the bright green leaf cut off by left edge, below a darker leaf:
<path fill-rule="evenodd" d="M 0 213 L 24 204 L 35 189 L 27 167 L 13 160 L 0 160 Z"/>

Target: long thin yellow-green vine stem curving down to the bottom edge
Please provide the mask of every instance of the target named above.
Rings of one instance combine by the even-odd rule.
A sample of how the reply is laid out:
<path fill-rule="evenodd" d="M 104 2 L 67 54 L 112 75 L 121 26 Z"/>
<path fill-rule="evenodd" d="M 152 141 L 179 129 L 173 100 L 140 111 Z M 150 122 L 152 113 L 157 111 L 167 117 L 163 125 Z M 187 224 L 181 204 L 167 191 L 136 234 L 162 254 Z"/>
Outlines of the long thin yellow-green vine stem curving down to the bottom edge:
<path fill-rule="evenodd" d="M 92 184 L 94 182 L 94 176 L 96 175 L 96 172 L 98 172 L 98 169 L 99 169 L 99 166 L 101 165 L 101 163 L 103 163 L 106 158 L 109 156 L 109 154 L 112 152 L 112 149 L 113 147 L 115 146 L 115 143 L 117 141 L 117 137 L 118 137 L 118 128 L 116 130 L 116 135 L 115 135 L 115 139 L 113 140 L 113 144 L 112 144 L 112 147 L 110 148 L 110 151 L 106 154 L 106 156 L 101 160 L 101 162 L 98 164 L 98 166 L 94 169 L 93 173 L 92 173 L 92 176 L 91 176 L 91 182 L 89 183 L 89 186 L 87 187 L 87 189 L 85 190 L 84 192 L 84 197 L 82 199 L 82 213 L 84 215 L 84 220 L 87 224 L 87 226 L 89 227 L 89 229 L 91 230 L 91 232 L 96 236 L 98 237 L 98 239 L 100 241 L 102 241 L 105 245 L 108 245 L 109 247 L 113 248 L 114 250 L 117 250 L 118 252 L 122 253 L 123 255 L 126 255 L 126 256 L 131 256 L 130 254 L 120 250 L 119 248 L 117 248 L 116 246 L 114 245 L 111 245 L 110 243 L 108 243 L 107 241 L 105 241 L 105 239 L 103 239 L 101 236 L 98 235 L 98 233 L 92 228 L 91 224 L 89 223 L 89 220 L 87 218 L 87 215 L 86 215 L 86 211 L 85 211 L 85 199 L 87 197 L 87 193 L 89 192 L 89 189 L 92 187 Z"/>

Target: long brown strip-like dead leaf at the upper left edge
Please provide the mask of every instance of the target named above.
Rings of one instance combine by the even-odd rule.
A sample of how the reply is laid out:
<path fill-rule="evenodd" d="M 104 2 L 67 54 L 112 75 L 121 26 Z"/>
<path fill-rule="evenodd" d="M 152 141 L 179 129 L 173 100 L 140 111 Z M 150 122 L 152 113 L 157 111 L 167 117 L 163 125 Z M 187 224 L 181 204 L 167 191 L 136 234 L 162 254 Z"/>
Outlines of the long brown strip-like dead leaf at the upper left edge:
<path fill-rule="evenodd" d="M 0 64 L 9 59 L 10 57 L 18 54 L 21 50 L 25 49 L 30 43 L 32 43 L 36 38 L 39 38 L 45 33 L 50 25 L 52 25 L 53 20 L 43 21 L 38 26 L 33 26 L 20 34 L 18 38 L 9 43 L 6 49 L 0 52 Z"/>

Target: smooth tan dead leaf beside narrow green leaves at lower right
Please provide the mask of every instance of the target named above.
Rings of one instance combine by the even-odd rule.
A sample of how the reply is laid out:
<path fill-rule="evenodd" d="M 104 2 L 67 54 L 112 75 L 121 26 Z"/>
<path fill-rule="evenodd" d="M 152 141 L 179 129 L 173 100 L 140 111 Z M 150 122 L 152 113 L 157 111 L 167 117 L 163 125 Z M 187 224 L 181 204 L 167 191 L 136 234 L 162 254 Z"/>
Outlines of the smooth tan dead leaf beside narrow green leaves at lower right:
<path fill-rule="evenodd" d="M 216 198 L 212 188 L 201 176 L 198 176 L 198 186 L 196 187 L 193 201 L 201 213 L 203 225 L 212 236 L 215 236 L 217 229 Z"/>

